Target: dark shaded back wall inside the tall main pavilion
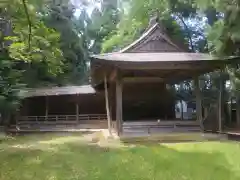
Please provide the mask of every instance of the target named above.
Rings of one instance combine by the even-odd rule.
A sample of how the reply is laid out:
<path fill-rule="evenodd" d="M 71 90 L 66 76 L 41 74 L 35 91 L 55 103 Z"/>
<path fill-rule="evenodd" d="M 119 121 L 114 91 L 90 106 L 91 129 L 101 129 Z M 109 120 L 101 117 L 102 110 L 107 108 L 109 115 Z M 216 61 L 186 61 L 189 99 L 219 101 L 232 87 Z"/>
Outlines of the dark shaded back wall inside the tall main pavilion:
<path fill-rule="evenodd" d="M 115 85 L 110 88 L 110 105 L 116 117 Z M 125 83 L 123 85 L 123 120 L 174 119 L 175 100 L 161 83 Z"/>

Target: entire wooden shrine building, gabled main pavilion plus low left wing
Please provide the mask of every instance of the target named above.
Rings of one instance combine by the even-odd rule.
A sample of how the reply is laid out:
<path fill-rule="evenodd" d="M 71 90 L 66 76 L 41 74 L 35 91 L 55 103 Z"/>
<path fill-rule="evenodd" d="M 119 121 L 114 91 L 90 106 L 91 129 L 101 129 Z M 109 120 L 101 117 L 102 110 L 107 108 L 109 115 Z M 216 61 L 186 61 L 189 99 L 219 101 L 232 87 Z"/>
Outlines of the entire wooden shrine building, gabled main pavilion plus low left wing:
<path fill-rule="evenodd" d="M 91 86 L 28 90 L 17 123 L 72 123 L 80 128 L 94 124 L 95 128 L 114 127 L 118 134 L 129 124 L 200 127 L 203 112 L 198 77 L 230 61 L 186 49 L 155 18 L 126 48 L 91 57 Z M 195 84 L 196 117 L 180 120 L 169 87 L 189 79 Z M 217 129 L 221 130 L 219 109 Z"/>

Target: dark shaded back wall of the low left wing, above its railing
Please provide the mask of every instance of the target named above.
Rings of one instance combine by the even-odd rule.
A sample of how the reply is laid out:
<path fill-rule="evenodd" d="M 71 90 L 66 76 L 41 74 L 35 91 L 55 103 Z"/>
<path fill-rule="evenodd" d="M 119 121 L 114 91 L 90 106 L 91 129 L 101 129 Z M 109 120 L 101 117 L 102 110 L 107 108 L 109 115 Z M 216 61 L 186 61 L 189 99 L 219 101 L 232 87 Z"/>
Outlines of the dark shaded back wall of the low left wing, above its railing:
<path fill-rule="evenodd" d="M 48 96 L 49 115 L 75 115 L 76 103 L 79 114 L 105 114 L 104 94 L 81 94 L 66 96 Z M 21 115 L 45 116 L 46 97 L 27 98 L 22 103 Z"/>

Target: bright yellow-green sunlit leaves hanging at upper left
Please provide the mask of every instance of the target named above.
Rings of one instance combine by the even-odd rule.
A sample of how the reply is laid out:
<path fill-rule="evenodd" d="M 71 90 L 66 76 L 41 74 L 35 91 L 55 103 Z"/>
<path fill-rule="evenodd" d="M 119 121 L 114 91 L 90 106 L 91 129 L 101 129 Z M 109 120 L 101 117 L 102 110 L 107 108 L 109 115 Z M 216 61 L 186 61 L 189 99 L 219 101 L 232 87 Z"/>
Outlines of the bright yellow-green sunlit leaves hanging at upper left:
<path fill-rule="evenodd" d="M 58 33 L 45 26 L 34 4 L 28 2 L 28 15 L 31 21 L 29 25 L 22 2 L 15 0 L 14 6 L 9 6 L 6 11 L 12 23 L 11 36 L 6 37 L 7 40 L 11 40 L 8 47 L 10 57 L 26 62 L 44 61 L 52 68 L 49 68 L 52 73 L 58 73 L 63 59 L 62 52 L 59 49 Z M 31 26 L 31 32 L 29 32 L 29 26 Z M 31 33 L 30 44 L 29 33 Z"/>

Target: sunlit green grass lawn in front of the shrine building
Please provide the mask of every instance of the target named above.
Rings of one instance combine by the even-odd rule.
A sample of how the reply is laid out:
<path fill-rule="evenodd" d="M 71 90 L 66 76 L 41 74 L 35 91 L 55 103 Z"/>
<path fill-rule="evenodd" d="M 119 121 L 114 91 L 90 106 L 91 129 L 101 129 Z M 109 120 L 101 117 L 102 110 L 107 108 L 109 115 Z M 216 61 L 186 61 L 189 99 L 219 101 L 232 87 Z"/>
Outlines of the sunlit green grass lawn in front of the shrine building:
<path fill-rule="evenodd" d="M 81 135 L 2 141 L 0 180 L 239 180 L 240 144 L 89 144 Z"/>

